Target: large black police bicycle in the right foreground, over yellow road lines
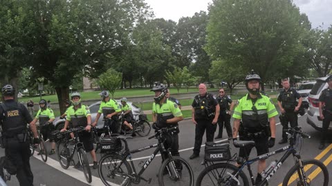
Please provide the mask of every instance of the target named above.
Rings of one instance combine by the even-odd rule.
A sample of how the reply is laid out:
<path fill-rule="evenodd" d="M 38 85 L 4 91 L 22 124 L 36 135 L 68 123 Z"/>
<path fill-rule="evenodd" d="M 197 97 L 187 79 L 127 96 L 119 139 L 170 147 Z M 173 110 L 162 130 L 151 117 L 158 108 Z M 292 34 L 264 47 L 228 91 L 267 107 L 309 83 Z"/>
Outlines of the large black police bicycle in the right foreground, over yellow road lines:
<path fill-rule="evenodd" d="M 243 172 L 244 167 L 248 167 L 252 185 L 255 185 L 254 176 L 250 165 L 255 161 L 266 159 L 270 156 L 274 156 L 280 152 L 285 152 L 284 156 L 279 161 L 273 161 L 265 170 L 261 173 L 261 183 L 257 185 L 267 185 L 268 180 L 277 172 L 286 159 L 293 155 L 295 159 L 295 165 L 287 172 L 282 183 L 286 185 L 329 185 L 329 172 L 326 166 L 315 159 L 302 160 L 299 155 L 299 151 L 302 146 L 303 138 L 310 138 L 308 134 L 304 134 L 300 127 L 289 128 L 288 134 L 291 134 L 289 138 L 290 145 L 279 148 L 274 152 L 262 154 L 252 159 L 248 159 L 248 155 L 245 154 L 246 159 L 241 163 L 240 167 L 233 165 L 234 158 L 228 160 L 226 163 L 213 163 L 204 162 L 205 169 L 199 174 L 196 185 L 249 185 L 248 178 Z M 255 145 L 254 141 L 234 141 L 235 147 L 250 147 Z M 297 150 L 299 147 L 299 150 Z"/>

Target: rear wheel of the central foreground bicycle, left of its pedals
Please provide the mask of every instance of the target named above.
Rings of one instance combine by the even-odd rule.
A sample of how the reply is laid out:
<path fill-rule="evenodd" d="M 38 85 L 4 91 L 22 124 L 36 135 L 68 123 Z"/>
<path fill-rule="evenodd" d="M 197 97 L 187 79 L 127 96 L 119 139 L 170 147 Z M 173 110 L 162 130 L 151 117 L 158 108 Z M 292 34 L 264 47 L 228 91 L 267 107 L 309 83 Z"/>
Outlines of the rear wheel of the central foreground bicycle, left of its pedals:
<path fill-rule="evenodd" d="M 130 185 L 131 167 L 119 154 L 105 154 L 98 164 L 98 174 L 104 185 Z"/>

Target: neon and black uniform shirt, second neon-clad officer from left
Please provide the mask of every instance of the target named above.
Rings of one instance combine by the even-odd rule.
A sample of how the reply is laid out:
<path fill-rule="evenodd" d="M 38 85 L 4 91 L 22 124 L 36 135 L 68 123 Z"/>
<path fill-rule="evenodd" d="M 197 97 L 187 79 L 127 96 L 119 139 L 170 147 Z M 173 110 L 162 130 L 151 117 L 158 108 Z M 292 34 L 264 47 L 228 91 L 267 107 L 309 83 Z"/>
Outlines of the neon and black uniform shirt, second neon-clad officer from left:
<path fill-rule="evenodd" d="M 89 107 L 86 105 L 80 104 L 80 106 L 75 110 L 74 105 L 68 107 L 67 109 L 67 117 L 66 120 L 71 121 L 73 123 L 73 127 L 77 126 L 86 126 L 87 125 L 87 116 L 91 116 Z"/>

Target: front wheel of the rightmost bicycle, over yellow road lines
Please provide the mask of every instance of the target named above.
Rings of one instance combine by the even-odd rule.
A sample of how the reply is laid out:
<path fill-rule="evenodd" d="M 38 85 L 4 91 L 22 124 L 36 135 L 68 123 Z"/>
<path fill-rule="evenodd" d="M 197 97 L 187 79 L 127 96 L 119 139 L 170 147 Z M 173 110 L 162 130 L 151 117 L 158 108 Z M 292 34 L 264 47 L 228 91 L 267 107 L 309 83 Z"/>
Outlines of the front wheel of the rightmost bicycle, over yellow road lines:
<path fill-rule="evenodd" d="M 326 166 L 317 160 L 302 161 L 304 174 L 299 167 L 299 163 L 294 165 L 286 174 L 284 178 L 283 186 L 286 185 L 329 185 L 329 172 Z M 304 179 L 304 177 L 306 179 Z"/>

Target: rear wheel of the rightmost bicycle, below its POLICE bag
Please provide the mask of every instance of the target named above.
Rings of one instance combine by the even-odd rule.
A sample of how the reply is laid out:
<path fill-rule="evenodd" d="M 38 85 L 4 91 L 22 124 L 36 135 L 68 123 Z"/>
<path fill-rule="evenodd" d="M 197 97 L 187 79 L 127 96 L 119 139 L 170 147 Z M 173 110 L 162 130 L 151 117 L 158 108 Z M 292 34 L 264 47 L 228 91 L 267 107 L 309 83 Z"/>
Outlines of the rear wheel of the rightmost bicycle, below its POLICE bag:
<path fill-rule="evenodd" d="M 248 186 L 248 178 L 243 172 L 233 176 L 239 170 L 238 167 L 228 163 L 216 163 L 203 169 L 196 181 L 196 186 L 203 185 L 244 185 Z M 232 178 L 233 177 L 233 178 Z"/>

